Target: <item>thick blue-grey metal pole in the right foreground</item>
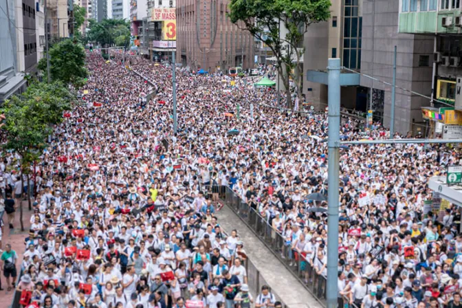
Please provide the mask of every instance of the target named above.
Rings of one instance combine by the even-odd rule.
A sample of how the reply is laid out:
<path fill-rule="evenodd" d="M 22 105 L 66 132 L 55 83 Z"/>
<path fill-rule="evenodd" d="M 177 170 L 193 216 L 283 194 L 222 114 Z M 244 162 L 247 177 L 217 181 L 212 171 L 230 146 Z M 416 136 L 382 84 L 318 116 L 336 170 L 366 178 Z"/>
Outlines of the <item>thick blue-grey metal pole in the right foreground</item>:
<path fill-rule="evenodd" d="M 338 308 L 338 180 L 340 149 L 340 59 L 330 58 L 329 66 L 329 161 L 327 181 L 327 308 Z"/>

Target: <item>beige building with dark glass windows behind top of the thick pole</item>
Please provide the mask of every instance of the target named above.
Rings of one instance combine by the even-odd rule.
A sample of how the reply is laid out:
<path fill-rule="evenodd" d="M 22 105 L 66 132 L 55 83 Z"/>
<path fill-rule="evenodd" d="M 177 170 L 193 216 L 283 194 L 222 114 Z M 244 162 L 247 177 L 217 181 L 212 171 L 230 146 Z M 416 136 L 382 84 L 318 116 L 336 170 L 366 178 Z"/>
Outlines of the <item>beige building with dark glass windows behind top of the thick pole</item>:
<path fill-rule="evenodd" d="M 366 0 L 364 0 L 366 1 Z M 357 72 L 362 58 L 363 0 L 331 1 L 331 18 L 309 25 L 304 37 L 303 94 L 315 109 L 327 106 L 327 61 L 340 58 L 342 66 Z M 367 110 L 367 89 L 360 87 L 360 76 L 342 71 L 345 84 L 341 87 L 341 104 L 347 109 Z"/>

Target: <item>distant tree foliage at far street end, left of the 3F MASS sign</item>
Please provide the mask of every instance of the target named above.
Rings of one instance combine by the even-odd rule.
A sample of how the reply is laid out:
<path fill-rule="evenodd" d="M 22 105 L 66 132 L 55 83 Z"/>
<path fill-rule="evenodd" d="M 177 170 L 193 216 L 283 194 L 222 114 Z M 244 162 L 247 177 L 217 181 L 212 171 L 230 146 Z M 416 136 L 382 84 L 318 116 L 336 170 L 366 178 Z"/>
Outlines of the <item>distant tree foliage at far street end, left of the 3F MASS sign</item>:
<path fill-rule="evenodd" d="M 100 23 L 89 20 L 88 41 L 109 47 L 128 46 L 130 43 L 130 23 L 123 19 L 103 19 Z"/>

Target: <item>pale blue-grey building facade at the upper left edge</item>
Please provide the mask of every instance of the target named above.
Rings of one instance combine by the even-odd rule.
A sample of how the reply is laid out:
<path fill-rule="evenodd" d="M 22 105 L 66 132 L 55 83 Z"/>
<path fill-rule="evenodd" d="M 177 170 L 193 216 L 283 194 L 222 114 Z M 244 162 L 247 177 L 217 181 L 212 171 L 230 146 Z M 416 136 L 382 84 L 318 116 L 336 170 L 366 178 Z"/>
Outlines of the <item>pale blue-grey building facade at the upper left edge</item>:
<path fill-rule="evenodd" d="M 0 102 L 25 89 L 17 67 L 17 32 L 14 0 L 0 0 Z"/>

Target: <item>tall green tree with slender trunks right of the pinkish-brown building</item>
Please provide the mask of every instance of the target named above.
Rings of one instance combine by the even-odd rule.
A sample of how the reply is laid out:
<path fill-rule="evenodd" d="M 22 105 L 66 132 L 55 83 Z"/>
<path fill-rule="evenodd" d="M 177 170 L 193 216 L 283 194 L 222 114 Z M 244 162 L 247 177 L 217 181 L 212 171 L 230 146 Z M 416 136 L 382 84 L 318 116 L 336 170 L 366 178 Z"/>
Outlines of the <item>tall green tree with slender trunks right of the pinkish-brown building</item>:
<path fill-rule="evenodd" d="M 330 17 L 329 0 L 231 0 L 232 23 L 248 30 L 263 41 L 276 57 L 278 74 L 286 89 L 287 107 L 292 108 L 289 77 L 296 84 L 298 97 L 302 98 L 303 36 L 309 25 L 327 21 Z M 280 35 L 285 28 L 287 34 Z"/>

